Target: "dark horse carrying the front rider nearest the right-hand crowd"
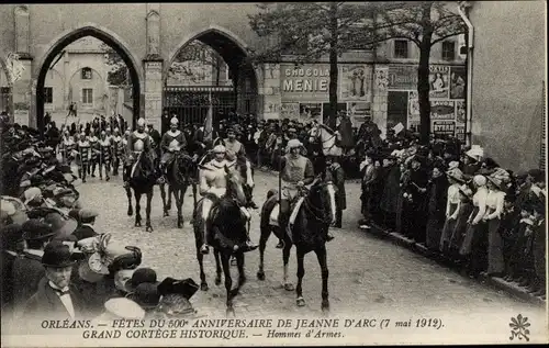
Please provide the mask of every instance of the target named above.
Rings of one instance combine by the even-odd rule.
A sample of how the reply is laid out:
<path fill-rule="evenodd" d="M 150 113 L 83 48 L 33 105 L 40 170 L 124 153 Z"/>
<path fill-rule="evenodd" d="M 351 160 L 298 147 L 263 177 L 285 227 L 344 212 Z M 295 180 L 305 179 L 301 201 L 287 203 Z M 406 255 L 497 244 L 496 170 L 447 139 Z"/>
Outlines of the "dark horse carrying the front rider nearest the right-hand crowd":
<path fill-rule="evenodd" d="M 272 223 L 271 213 L 278 204 L 278 192 L 276 190 L 267 193 L 267 201 L 261 207 L 261 237 L 259 239 L 259 270 L 257 278 L 265 280 L 264 254 L 267 240 L 271 232 L 280 239 L 284 240 L 282 249 L 282 260 L 284 265 L 284 289 L 293 291 L 293 285 L 288 281 L 288 261 L 290 249 L 295 245 L 298 256 L 298 287 L 295 289 L 298 306 L 305 305 L 302 296 L 302 280 L 305 274 L 303 259 L 306 254 L 314 251 L 318 259 L 322 271 L 322 310 L 329 310 L 328 300 L 328 266 L 326 260 L 326 235 L 330 224 L 335 218 L 335 192 L 336 188 L 332 182 L 315 179 L 311 189 L 303 188 L 303 203 L 299 207 L 295 221 L 291 231 L 283 232 L 283 228 Z M 294 204 L 291 210 L 293 211 Z M 277 223 L 278 224 L 278 223 Z M 290 236 L 291 234 L 291 236 Z"/>

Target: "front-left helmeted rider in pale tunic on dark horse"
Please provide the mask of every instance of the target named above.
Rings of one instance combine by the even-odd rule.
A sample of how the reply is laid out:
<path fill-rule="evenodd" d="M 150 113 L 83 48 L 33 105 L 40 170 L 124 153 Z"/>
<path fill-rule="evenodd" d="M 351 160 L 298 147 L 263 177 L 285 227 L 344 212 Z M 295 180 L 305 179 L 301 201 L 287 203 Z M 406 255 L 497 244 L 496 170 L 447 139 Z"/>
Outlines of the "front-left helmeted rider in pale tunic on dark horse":
<path fill-rule="evenodd" d="M 213 148 L 213 153 L 215 155 L 214 159 L 209 161 L 204 166 L 204 169 L 200 170 L 200 194 L 203 195 L 202 221 L 204 223 L 204 244 L 200 248 L 200 252 L 202 254 L 208 254 L 210 251 L 208 246 L 209 228 L 206 221 L 210 216 L 213 201 L 208 197 L 208 194 L 214 194 L 217 198 L 222 198 L 225 194 L 227 184 L 225 178 L 225 166 L 234 166 L 234 162 L 226 160 L 226 149 L 223 145 L 215 146 Z M 240 207 L 240 211 L 247 220 L 251 217 L 249 212 L 244 206 Z M 247 250 L 245 251 L 250 251 L 257 248 L 257 245 L 249 240 L 249 235 L 246 246 Z"/>

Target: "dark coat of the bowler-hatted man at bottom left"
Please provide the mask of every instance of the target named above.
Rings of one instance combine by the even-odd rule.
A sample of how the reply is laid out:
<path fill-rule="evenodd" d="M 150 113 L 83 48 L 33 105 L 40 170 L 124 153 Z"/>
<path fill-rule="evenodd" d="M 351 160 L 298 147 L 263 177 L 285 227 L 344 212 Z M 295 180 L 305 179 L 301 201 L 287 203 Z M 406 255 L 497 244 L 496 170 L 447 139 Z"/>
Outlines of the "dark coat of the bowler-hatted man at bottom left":
<path fill-rule="evenodd" d="M 86 315 L 85 300 L 78 295 L 72 285 L 69 285 L 70 300 L 75 308 L 75 318 L 82 318 Z M 69 313 L 65 308 L 59 296 L 52 287 L 48 285 L 47 278 L 42 278 L 38 282 L 37 291 L 26 301 L 24 318 L 37 321 L 43 319 L 67 319 Z"/>

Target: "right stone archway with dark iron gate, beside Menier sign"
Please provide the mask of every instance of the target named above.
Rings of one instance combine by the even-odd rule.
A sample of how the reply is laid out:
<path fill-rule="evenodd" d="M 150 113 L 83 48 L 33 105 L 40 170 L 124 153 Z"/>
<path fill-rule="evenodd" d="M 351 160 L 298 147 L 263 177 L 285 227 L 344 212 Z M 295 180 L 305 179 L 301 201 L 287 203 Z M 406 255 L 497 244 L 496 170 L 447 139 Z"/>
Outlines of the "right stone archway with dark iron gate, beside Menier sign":
<path fill-rule="evenodd" d="M 172 63 L 178 57 L 179 53 L 193 42 L 201 42 L 202 44 L 211 47 L 228 66 L 229 75 L 232 76 L 233 87 L 219 87 L 219 86 L 205 86 L 199 89 L 189 87 L 169 87 L 167 86 L 169 69 Z M 236 111 L 240 114 L 243 113 L 254 113 L 257 114 L 259 110 L 259 98 L 258 98 L 258 77 L 254 67 L 247 60 L 247 46 L 246 44 L 229 31 L 219 27 L 209 26 L 202 31 L 188 35 L 181 41 L 180 45 L 177 46 L 170 54 L 167 64 L 164 67 L 164 109 L 172 114 L 186 114 L 188 111 L 181 110 L 181 108 L 187 108 L 182 105 L 181 100 L 191 99 L 195 102 L 197 108 L 204 108 L 205 101 L 213 98 L 213 109 L 214 113 L 222 114 L 229 109 Z M 213 93 L 213 97 L 212 97 Z M 189 98 L 191 94 L 200 94 L 201 100 L 198 101 L 197 98 Z M 234 98 L 231 98 L 234 94 Z M 181 97 L 181 98 L 179 98 Z M 231 106 L 229 104 L 234 104 Z M 204 112 L 202 112 L 203 114 Z M 193 119 L 192 122 L 197 120 Z M 214 115 L 214 123 L 220 121 L 217 114 Z"/>

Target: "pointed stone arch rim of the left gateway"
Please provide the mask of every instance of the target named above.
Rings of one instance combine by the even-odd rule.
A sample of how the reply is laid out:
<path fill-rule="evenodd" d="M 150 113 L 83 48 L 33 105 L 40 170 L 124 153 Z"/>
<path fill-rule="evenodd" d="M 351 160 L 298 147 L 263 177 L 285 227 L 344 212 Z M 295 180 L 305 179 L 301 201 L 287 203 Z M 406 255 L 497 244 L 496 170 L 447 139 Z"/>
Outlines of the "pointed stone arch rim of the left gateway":
<path fill-rule="evenodd" d="M 44 88 L 45 77 L 49 66 L 54 61 L 55 57 L 61 53 L 66 46 L 85 36 L 93 36 L 102 41 L 121 56 L 128 68 L 130 78 L 132 80 L 133 123 L 135 124 L 136 120 L 142 115 L 141 99 L 143 74 L 142 69 L 139 69 L 137 59 L 135 59 L 127 46 L 124 45 L 120 37 L 117 37 L 114 33 L 110 33 L 108 30 L 100 29 L 94 24 L 87 24 L 82 27 L 59 35 L 49 46 L 49 49 L 44 54 L 42 61 L 37 66 L 40 69 L 36 80 L 36 123 L 38 130 L 43 130 L 44 127 L 44 94 L 42 90 Z"/>

